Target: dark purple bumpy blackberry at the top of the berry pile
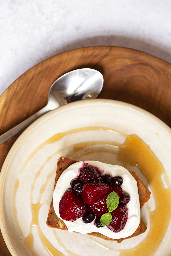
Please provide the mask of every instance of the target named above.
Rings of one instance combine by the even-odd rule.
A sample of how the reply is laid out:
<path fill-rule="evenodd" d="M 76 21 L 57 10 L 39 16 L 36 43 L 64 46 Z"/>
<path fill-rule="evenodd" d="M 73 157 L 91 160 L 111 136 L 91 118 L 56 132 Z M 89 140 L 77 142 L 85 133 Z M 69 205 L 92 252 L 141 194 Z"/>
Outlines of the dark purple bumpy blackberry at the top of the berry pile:
<path fill-rule="evenodd" d="M 80 170 L 79 178 L 83 184 L 102 183 L 101 173 L 95 167 L 92 166 L 84 166 Z"/>

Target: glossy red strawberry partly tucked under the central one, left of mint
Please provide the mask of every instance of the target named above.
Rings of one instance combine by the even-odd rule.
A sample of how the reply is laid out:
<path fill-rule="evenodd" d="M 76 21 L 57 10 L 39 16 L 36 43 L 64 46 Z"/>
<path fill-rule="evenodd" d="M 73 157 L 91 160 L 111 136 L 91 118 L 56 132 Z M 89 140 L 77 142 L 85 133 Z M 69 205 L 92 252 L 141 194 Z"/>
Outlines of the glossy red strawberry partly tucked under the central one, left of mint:
<path fill-rule="evenodd" d="M 95 213 L 96 217 L 101 217 L 104 213 L 108 212 L 106 200 L 109 193 L 104 194 L 97 202 L 93 205 L 87 205 L 87 209 Z"/>

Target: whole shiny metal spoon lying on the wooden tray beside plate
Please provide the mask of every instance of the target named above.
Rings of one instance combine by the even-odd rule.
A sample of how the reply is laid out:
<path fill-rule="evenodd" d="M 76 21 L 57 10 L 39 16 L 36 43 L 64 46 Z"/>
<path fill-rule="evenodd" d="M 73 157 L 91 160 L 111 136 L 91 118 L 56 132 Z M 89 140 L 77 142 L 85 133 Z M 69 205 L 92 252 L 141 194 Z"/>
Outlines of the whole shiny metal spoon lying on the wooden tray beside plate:
<path fill-rule="evenodd" d="M 72 101 L 95 99 L 103 87 L 102 74 L 91 68 L 70 71 L 50 87 L 47 105 L 0 136 L 0 145 L 33 123 L 40 116 Z"/>

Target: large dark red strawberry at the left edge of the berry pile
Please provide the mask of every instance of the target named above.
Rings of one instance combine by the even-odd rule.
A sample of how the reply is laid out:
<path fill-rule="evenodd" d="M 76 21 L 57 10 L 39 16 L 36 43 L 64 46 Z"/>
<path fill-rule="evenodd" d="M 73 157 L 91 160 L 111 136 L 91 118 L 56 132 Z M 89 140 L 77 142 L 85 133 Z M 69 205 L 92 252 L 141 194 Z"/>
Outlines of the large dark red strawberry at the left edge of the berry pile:
<path fill-rule="evenodd" d="M 59 214 L 63 220 L 74 221 L 84 216 L 87 208 L 82 197 L 68 188 L 59 202 Z"/>

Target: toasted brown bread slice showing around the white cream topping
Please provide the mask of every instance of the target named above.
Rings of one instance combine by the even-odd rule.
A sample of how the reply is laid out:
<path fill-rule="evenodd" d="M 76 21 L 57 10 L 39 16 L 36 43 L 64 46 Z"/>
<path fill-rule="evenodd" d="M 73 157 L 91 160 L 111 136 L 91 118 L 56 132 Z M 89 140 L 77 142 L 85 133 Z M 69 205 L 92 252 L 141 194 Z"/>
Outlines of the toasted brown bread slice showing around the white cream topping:
<path fill-rule="evenodd" d="M 66 157 L 60 157 L 57 163 L 57 170 L 56 170 L 56 177 L 55 177 L 55 184 L 54 184 L 54 188 L 56 186 L 56 183 L 61 175 L 61 173 L 68 168 L 68 166 L 70 166 L 71 164 L 74 164 L 78 161 L 76 160 L 72 160 Z M 132 174 L 132 176 L 136 179 L 137 181 L 137 186 L 138 186 L 138 193 L 139 193 L 139 198 L 140 198 L 140 207 L 142 207 L 145 202 L 148 201 L 148 199 L 150 198 L 150 192 L 149 190 L 144 186 L 144 184 L 141 182 L 140 179 L 138 179 L 138 177 L 135 175 L 134 172 L 130 172 Z M 48 218 L 47 218 L 47 225 L 49 227 L 52 228 L 58 228 L 58 229 L 62 229 L 62 230 L 68 230 L 67 226 L 65 225 L 65 223 L 57 217 L 54 207 L 53 207 L 53 200 L 51 201 L 50 204 L 50 209 L 49 209 L 49 214 L 48 214 Z M 140 221 L 140 225 L 138 226 L 137 230 L 129 237 L 126 238 L 121 238 L 121 239 L 112 239 L 109 237 L 106 237 L 98 232 L 93 232 L 93 233 L 89 233 L 90 235 L 96 236 L 96 237 L 100 237 L 103 238 L 105 240 L 116 240 L 117 242 L 122 242 L 122 240 L 133 237 L 133 236 L 137 236 L 138 234 L 143 233 L 146 230 L 146 226 L 144 224 L 144 222 Z"/>

